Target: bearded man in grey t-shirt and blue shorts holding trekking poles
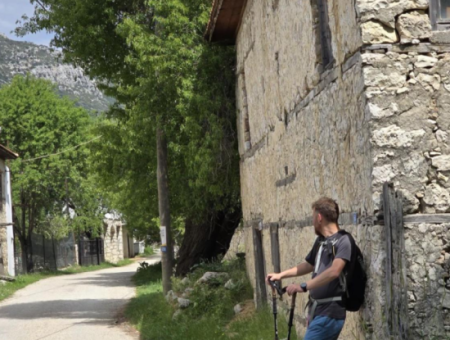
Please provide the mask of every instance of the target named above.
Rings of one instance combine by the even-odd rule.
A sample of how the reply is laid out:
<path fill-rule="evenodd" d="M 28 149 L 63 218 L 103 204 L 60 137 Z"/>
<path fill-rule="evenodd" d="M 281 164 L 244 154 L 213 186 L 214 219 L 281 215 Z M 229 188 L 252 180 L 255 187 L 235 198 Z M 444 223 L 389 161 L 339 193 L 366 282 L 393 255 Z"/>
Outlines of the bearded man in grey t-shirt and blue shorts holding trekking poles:
<path fill-rule="evenodd" d="M 289 295 L 309 292 L 311 301 L 319 301 L 318 304 L 310 304 L 304 340 L 336 340 L 344 327 L 346 316 L 345 307 L 339 301 L 345 285 L 340 275 L 350 262 L 352 246 L 348 235 L 338 233 L 339 207 L 334 200 L 323 197 L 313 203 L 312 209 L 318 238 L 305 262 L 282 273 L 269 274 L 267 281 L 313 273 L 311 280 L 291 284 L 286 291 Z M 323 299 L 328 301 L 320 301 Z M 329 301 L 331 299 L 334 301 Z"/>

